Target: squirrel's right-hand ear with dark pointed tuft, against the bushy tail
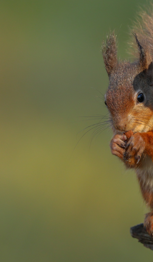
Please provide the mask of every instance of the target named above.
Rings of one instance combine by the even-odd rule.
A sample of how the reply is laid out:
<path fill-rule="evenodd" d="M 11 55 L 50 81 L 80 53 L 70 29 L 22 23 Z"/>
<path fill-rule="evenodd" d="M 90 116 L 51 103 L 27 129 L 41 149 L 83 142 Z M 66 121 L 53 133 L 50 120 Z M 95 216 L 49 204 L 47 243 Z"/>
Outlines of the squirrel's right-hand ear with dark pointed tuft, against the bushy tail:
<path fill-rule="evenodd" d="M 145 39 L 143 39 L 143 46 L 142 46 L 138 40 L 136 32 L 134 32 L 133 35 L 136 38 L 136 43 L 138 45 L 140 66 L 142 70 L 147 70 L 151 63 L 151 56 L 150 56 L 149 48 L 146 45 Z"/>

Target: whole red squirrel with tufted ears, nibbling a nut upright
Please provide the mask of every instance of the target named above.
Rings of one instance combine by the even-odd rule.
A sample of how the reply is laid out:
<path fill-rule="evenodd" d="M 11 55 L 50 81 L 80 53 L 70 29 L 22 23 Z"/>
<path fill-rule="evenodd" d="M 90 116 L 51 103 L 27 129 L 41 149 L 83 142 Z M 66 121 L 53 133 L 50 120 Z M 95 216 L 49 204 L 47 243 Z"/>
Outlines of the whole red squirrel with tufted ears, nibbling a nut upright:
<path fill-rule="evenodd" d="M 133 30 L 138 49 L 134 62 L 117 59 L 114 32 L 103 43 L 109 76 L 105 104 L 113 125 L 111 153 L 136 170 L 143 198 L 151 209 L 144 227 L 153 236 L 153 13 L 140 16 Z"/>

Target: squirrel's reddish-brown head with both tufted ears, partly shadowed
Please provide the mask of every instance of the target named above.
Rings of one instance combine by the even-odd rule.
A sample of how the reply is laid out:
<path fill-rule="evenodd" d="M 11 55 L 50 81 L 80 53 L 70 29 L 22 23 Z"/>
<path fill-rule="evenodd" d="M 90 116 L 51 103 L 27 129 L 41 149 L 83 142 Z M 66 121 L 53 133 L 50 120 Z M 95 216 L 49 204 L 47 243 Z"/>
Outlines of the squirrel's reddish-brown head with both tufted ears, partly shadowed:
<path fill-rule="evenodd" d="M 145 39 L 142 46 L 137 35 L 134 36 L 139 58 L 133 63 L 117 59 L 114 32 L 102 46 L 109 76 L 105 104 L 117 132 L 153 130 L 153 62 Z"/>

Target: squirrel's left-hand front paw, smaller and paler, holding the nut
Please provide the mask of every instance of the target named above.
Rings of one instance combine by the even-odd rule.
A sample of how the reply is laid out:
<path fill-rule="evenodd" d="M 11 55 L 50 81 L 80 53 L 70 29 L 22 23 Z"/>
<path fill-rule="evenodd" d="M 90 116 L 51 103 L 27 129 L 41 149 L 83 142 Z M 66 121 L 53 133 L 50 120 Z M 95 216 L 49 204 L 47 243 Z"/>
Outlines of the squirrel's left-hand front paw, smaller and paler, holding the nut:
<path fill-rule="evenodd" d="M 126 139 L 127 139 L 126 135 L 115 135 L 113 139 L 111 139 L 110 149 L 113 155 L 116 155 L 121 159 L 123 159 L 123 156 L 125 154 L 125 148 L 126 148 L 126 144 L 124 141 L 126 141 Z"/>

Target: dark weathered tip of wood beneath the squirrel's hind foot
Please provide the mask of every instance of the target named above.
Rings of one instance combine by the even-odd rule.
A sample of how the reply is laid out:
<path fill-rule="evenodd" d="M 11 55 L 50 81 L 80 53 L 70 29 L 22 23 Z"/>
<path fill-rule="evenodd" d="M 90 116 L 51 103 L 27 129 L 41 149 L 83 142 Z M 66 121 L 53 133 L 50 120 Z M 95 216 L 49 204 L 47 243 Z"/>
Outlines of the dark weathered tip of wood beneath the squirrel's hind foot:
<path fill-rule="evenodd" d="M 145 247 L 153 250 L 153 237 L 143 227 L 143 223 L 130 228 L 131 236 L 137 238 Z"/>

